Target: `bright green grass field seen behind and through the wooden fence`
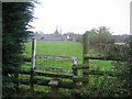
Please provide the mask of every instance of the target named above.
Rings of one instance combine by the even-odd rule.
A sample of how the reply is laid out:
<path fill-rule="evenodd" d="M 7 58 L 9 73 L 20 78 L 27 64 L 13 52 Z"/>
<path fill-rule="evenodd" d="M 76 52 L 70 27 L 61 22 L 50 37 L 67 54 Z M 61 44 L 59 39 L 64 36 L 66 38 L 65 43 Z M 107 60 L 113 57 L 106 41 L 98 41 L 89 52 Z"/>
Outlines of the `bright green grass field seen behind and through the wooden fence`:
<path fill-rule="evenodd" d="M 31 57 L 32 43 L 28 42 L 25 44 L 25 57 Z M 88 51 L 89 54 L 101 55 L 94 50 Z M 65 41 L 37 41 L 36 42 L 36 54 L 42 55 L 57 55 L 57 56 L 74 56 L 78 58 L 78 64 L 82 64 L 82 44 L 77 42 L 65 42 Z M 112 70 L 111 61 L 89 61 L 90 69 L 100 69 L 100 70 Z M 54 67 L 54 68 L 65 68 L 72 69 L 72 61 L 61 61 L 61 59 L 44 59 L 36 58 L 36 66 L 42 67 Z M 31 68 L 31 63 L 25 63 L 23 65 L 24 69 Z M 81 75 L 81 70 L 79 72 Z M 30 76 L 21 75 L 21 78 L 30 78 Z M 44 77 L 41 77 L 44 78 Z M 94 82 L 94 77 L 91 77 L 91 82 Z M 28 86 L 23 86 L 29 88 Z M 36 86 L 36 90 L 46 90 L 47 87 Z"/>

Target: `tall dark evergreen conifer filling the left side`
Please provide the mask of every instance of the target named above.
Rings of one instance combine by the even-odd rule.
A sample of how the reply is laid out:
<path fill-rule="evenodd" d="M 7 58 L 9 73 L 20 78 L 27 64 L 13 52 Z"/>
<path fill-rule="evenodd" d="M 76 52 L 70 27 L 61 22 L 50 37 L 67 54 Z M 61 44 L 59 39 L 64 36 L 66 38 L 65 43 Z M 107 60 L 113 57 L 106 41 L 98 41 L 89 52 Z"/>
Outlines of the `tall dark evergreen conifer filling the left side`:
<path fill-rule="evenodd" d="M 31 28 L 29 22 L 33 19 L 33 8 L 32 2 L 2 3 L 3 95 L 14 88 L 14 85 L 9 85 L 14 78 L 10 72 L 16 73 L 23 63 L 22 53 L 24 42 L 31 33 L 28 29 Z"/>

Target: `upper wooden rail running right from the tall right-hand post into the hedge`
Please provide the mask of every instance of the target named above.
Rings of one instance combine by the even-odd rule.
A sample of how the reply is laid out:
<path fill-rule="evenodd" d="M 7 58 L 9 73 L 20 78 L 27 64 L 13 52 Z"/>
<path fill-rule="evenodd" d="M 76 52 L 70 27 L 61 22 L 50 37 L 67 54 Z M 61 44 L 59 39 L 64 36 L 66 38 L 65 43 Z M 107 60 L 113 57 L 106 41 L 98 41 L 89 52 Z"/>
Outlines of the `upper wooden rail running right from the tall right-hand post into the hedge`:
<path fill-rule="evenodd" d="M 85 54 L 85 58 L 86 59 L 103 59 L 103 61 L 123 61 L 120 58 L 113 58 L 109 56 L 99 56 L 99 55 L 89 55 L 89 54 Z"/>

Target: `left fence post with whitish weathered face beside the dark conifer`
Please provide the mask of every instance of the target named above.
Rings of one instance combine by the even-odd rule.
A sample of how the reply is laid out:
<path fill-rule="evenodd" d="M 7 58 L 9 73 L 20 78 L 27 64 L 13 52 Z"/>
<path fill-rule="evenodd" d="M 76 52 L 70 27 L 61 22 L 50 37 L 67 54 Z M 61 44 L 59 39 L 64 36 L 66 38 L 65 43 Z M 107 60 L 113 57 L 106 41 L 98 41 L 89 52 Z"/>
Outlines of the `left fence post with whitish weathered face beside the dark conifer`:
<path fill-rule="evenodd" d="M 34 67 L 35 67 L 35 48 L 36 48 L 36 40 L 33 38 L 32 41 L 32 63 L 31 63 L 31 78 L 30 78 L 30 90 L 31 92 L 34 91 L 34 82 L 33 82 L 33 78 L 34 78 Z"/>

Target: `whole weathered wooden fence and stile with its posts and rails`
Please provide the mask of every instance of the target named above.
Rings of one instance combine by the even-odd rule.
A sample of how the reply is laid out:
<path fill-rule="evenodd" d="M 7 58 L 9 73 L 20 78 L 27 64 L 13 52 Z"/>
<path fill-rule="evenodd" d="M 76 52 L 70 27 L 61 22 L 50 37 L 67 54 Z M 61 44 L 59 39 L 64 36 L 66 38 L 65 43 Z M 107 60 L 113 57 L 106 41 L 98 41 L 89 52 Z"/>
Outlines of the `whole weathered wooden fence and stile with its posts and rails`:
<path fill-rule="evenodd" d="M 120 73 L 117 72 L 102 72 L 102 70 L 90 70 L 89 69 L 89 59 L 103 59 L 103 61 L 121 61 L 119 58 L 112 58 L 108 56 L 97 56 L 97 55 L 89 55 L 88 54 L 88 35 L 84 34 L 84 53 L 82 53 L 82 64 L 77 64 L 77 57 L 66 57 L 66 56 L 54 56 L 54 55 L 36 55 L 35 48 L 36 48 L 36 40 L 33 38 L 32 41 L 32 57 L 29 62 L 32 63 L 31 70 L 30 72 L 20 72 L 18 73 L 16 77 L 18 79 L 14 80 L 14 82 L 18 85 L 29 85 L 30 90 L 34 92 L 34 85 L 41 85 L 41 86 L 50 86 L 51 92 L 53 96 L 56 96 L 58 88 L 68 88 L 73 90 L 73 95 L 76 94 L 76 90 L 80 87 L 85 87 L 89 85 L 89 75 L 108 75 L 108 76 L 121 76 Z M 73 61 L 72 69 L 63 69 L 63 68 L 52 68 L 52 67 L 37 67 L 35 66 L 35 58 L 53 58 L 53 59 L 68 59 Z M 41 73 L 35 72 L 36 69 L 44 70 L 44 72 L 56 72 L 56 74 L 52 73 Z M 78 69 L 82 69 L 82 76 L 78 76 Z M 58 73 L 66 73 L 58 74 Z M 73 74 L 69 76 L 68 74 Z M 23 75 L 30 75 L 30 79 L 19 79 L 19 74 Z M 35 76 L 43 76 L 43 77 L 52 77 L 51 79 L 37 79 Z M 59 79 L 61 78 L 61 79 Z M 62 79 L 69 79 L 70 81 L 63 81 Z M 81 85 L 78 85 L 78 82 L 81 82 Z"/>

